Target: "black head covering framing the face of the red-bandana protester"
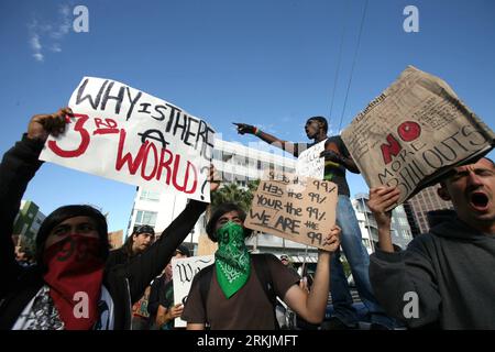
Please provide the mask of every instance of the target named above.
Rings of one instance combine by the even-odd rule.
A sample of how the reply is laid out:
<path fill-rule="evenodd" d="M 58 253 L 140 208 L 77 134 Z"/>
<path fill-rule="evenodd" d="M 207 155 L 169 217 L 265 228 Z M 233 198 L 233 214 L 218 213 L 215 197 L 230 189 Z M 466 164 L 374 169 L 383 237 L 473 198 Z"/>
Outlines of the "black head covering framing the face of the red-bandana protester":
<path fill-rule="evenodd" d="M 108 242 L 107 219 L 98 209 L 90 206 L 72 205 L 54 210 L 41 224 L 40 231 L 36 235 L 36 260 L 38 264 L 43 263 L 43 252 L 45 250 L 45 242 L 50 235 L 50 232 L 52 232 L 52 230 L 61 222 L 75 217 L 89 217 L 95 220 L 101 242 L 100 257 L 102 260 L 107 260 L 110 248 Z"/>

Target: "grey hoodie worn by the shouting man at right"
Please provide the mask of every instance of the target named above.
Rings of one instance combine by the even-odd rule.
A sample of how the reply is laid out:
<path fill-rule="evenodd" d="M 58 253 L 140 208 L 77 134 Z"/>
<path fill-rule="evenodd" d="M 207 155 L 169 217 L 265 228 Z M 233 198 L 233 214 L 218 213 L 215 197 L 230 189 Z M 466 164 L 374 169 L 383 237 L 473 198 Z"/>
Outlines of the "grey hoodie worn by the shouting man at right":
<path fill-rule="evenodd" d="M 495 235 L 458 218 L 417 237 L 406 251 L 377 250 L 370 279 L 385 310 L 410 328 L 495 329 Z"/>

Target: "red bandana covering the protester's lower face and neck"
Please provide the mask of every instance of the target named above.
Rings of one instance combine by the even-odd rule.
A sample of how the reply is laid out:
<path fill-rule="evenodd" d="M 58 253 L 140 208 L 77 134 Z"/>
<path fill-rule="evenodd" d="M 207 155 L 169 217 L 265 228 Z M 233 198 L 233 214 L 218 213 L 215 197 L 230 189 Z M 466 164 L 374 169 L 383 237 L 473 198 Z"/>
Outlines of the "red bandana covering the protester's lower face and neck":
<path fill-rule="evenodd" d="M 44 279 L 66 330 L 91 329 L 98 319 L 105 267 L 99 248 L 99 239 L 69 234 L 43 254 Z"/>

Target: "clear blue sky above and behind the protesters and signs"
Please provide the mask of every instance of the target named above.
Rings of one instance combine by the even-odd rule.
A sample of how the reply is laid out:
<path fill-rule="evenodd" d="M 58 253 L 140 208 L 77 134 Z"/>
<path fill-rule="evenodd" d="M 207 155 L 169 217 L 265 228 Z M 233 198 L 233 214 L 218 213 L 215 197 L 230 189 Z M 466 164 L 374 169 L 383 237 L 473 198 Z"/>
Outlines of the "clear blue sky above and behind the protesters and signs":
<path fill-rule="evenodd" d="M 350 2 L 346 4 L 346 2 Z M 209 121 L 228 141 L 231 122 L 305 141 L 306 118 L 330 117 L 341 33 L 342 64 L 330 117 L 342 116 L 365 0 L 0 1 L 0 153 L 34 113 L 67 105 L 82 76 L 111 78 Z M 73 9 L 89 10 L 75 33 Z M 406 6 L 419 32 L 403 30 Z M 370 0 L 342 127 L 407 66 L 447 80 L 495 128 L 495 1 Z M 494 153 L 491 154 L 493 156 Z M 352 195 L 367 191 L 350 176 Z M 125 229 L 135 187 L 45 164 L 25 199 L 45 213 L 66 204 L 109 212 Z"/>

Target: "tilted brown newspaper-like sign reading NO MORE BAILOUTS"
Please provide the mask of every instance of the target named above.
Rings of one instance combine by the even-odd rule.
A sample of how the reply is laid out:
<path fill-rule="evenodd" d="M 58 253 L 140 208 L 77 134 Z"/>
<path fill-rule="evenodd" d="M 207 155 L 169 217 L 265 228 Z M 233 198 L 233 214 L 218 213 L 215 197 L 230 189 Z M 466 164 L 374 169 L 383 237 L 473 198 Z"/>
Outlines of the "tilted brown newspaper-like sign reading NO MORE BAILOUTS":
<path fill-rule="evenodd" d="M 411 66 L 341 135 L 370 188 L 397 186 L 399 204 L 495 140 L 447 82 Z"/>

